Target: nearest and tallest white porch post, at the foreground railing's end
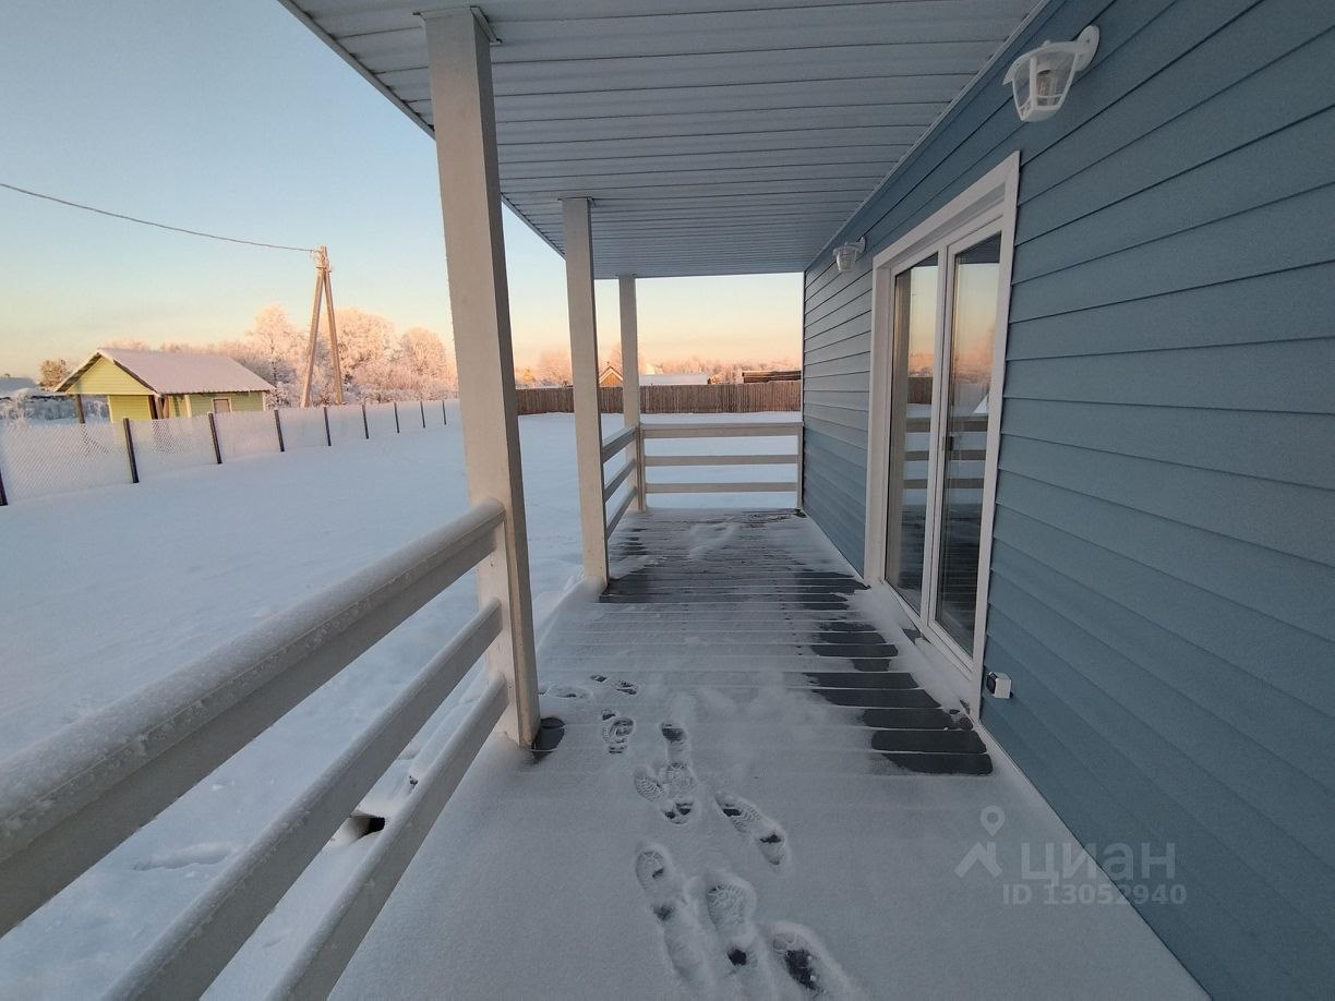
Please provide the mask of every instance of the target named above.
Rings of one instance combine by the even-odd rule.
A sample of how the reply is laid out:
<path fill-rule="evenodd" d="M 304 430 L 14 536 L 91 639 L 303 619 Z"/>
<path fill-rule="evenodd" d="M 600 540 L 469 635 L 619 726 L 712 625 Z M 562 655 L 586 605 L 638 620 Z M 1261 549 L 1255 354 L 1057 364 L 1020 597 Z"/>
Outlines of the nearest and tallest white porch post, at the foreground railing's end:
<path fill-rule="evenodd" d="M 487 650 L 487 665 L 505 678 L 509 689 L 501 729 L 529 746 L 537 737 L 539 719 L 537 655 L 501 230 L 491 52 L 469 8 L 434 11 L 422 17 L 469 499 L 477 503 L 495 498 L 506 513 L 505 545 L 478 565 L 479 602 L 497 599 L 506 610 L 505 629 Z"/>

